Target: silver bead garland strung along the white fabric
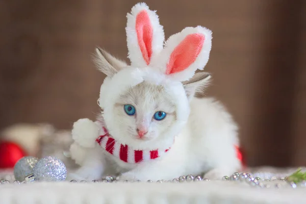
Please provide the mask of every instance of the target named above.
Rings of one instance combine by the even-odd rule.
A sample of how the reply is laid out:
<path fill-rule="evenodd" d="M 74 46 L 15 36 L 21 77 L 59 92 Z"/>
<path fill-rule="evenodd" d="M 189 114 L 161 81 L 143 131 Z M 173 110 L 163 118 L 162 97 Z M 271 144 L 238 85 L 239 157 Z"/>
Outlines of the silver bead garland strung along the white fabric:
<path fill-rule="evenodd" d="M 117 176 L 105 176 L 103 177 L 102 180 L 98 181 L 98 180 L 93 180 L 92 183 L 117 183 L 119 182 L 120 177 Z M 260 179 L 259 177 L 254 177 L 253 175 L 249 174 L 249 173 L 238 173 L 235 172 L 233 173 L 231 176 L 223 176 L 222 181 L 224 182 L 244 182 L 249 184 L 250 186 L 253 187 L 260 187 L 260 188 L 271 188 L 271 182 L 272 181 L 279 181 L 279 182 L 286 182 L 288 183 L 289 186 L 291 186 L 292 188 L 297 188 L 297 187 L 306 187 L 306 181 L 302 181 L 298 184 L 294 183 L 294 182 L 287 182 L 285 177 L 282 178 L 276 178 L 276 176 L 272 176 L 270 180 L 265 180 L 265 179 Z M 178 178 L 174 178 L 173 180 L 158 180 L 156 183 L 190 183 L 190 182 L 209 182 L 210 180 L 202 177 L 200 175 L 197 176 L 193 176 L 191 174 L 189 175 L 182 175 Z M 140 180 L 137 181 L 123 181 L 123 183 L 135 183 L 135 182 L 141 182 Z M 71 180 L 70 183 L 78 183 L 78 181 L 76 180 Z M 83 183 L 86 184 L 87 181 L 82 180 L 79 183 Z M 147 183 L 153 183 L 153 181 L 148 180 Z M 8 180 L 0 180 L 0 184 L 10 184 L 10 181 Z M 21 184 L 19 181 L 14 181 L 13 184 Z M 273 184 L 272 184 L 273 185 Z M 281 183 L 276 183 L 274 184 L 275 188 L 281 188 Z"/>

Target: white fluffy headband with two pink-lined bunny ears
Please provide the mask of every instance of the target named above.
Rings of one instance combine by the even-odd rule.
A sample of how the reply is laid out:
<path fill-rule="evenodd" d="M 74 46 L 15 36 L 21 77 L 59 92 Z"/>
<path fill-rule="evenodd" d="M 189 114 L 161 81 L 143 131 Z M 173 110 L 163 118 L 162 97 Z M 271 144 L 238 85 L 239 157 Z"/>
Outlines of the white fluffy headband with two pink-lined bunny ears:
<path fill-rule="evenodd" d="M 182 82 L 207 64 L 211 31 L 200 26 L 188 27 L 170 36 L 164 45 L 164 30 L 159 17 L 144 3 L 135 5 L 127 14 L 125 30 L 131 66 L 105 79 L 100 89 L 100 107 L 106 109 L 113 105 L 120 94 L 145 81 L 163 85 L 177 101 L 177 106 L 186 109 L 188 99 Z"/>

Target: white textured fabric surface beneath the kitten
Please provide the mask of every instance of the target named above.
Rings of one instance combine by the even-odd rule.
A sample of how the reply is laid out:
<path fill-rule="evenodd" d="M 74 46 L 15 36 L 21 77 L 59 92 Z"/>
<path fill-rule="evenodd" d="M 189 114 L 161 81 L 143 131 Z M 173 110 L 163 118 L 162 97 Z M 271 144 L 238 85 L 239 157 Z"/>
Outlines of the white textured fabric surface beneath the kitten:
<path fill-rule="evenodd" d="M 266 179 L 284 177 L 296 168 L 246 169 Z M 305 169 L 303 169 L 305 170 Z M 0 172 L 0 177 L 11 174 Z M 245 182 L 191 183 L 31 183 L 0 185 L 2 204 L 9 203 L 305 203 L 306 187 L 292 188 L 284 181 L 257 188 Z M 279 188 L 274 186 L 279 184 Z"/>

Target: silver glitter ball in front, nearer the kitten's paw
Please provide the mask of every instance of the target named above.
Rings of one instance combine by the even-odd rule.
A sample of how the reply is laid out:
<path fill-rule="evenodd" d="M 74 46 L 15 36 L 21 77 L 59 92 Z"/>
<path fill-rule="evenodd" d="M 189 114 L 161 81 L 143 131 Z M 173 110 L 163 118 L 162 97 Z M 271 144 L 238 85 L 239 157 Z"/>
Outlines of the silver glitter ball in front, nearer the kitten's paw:
<path fill-rule="evenodd" d="M 65 181 L 67 169 L 61 160 L 57 159 L 56 157 L 47 156 L 36 163 L 33 169 L 33 174 L 36 181 Z"/>

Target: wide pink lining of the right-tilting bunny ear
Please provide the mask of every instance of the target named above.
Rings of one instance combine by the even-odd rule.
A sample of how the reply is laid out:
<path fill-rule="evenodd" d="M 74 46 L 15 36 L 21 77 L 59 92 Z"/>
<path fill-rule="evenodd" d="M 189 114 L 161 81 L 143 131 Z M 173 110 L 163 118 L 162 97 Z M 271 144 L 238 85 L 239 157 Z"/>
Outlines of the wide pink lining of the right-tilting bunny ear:
<path fill-rule="evenodd" d="M 166 74 L 176 73 L 188 68 L 200 54 L 205 36 L 203 34 L 189 34 L 177 45 L 170 55 Z"/>

